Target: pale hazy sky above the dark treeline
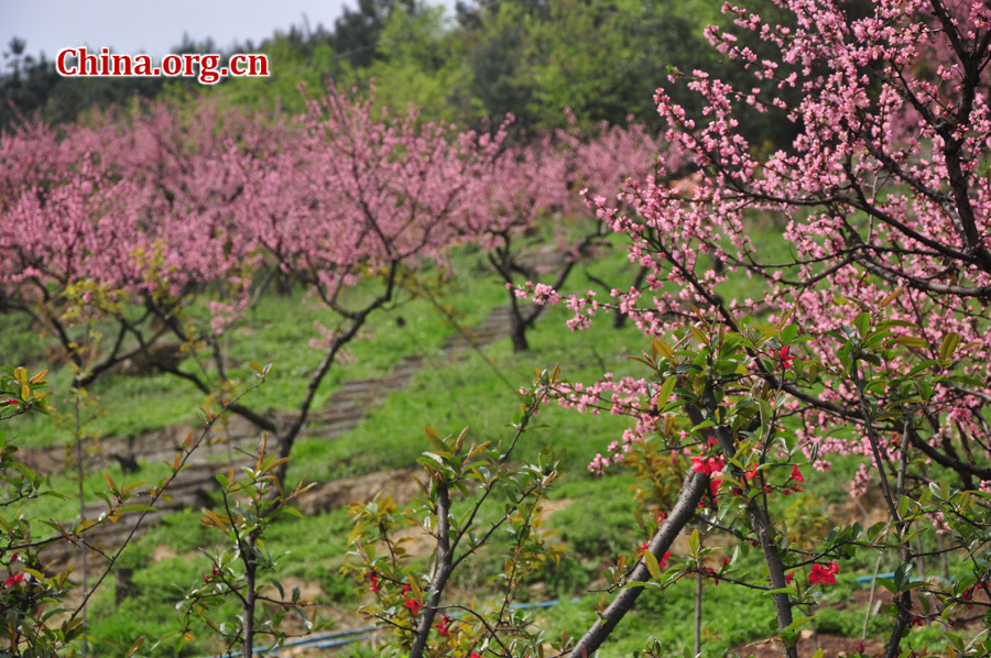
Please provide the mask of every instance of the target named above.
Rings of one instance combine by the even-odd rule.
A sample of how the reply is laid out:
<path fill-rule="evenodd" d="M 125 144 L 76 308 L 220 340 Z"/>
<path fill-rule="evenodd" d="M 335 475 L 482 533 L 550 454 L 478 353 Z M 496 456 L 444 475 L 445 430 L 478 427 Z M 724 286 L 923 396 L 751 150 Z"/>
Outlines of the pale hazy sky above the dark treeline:
<path fill-rule="evenodd" d="M 444 3 L 453 7 L 454 0 Z M 26 54 L 44 52 L 48 59 L 75 46 L 108 46 L 157 59 L 179 44 L 184 33 L 197 43 L 213 37 L 224 51 L 248 40 L 258 45 L 276 29 L 302 26 L 304 14 L 312 29 L 318 23 L 330 29 L 346 4 L 353 8 L 357 1 L 0 0 L 0 52 L 19 36 L 28 42 Z"/>

